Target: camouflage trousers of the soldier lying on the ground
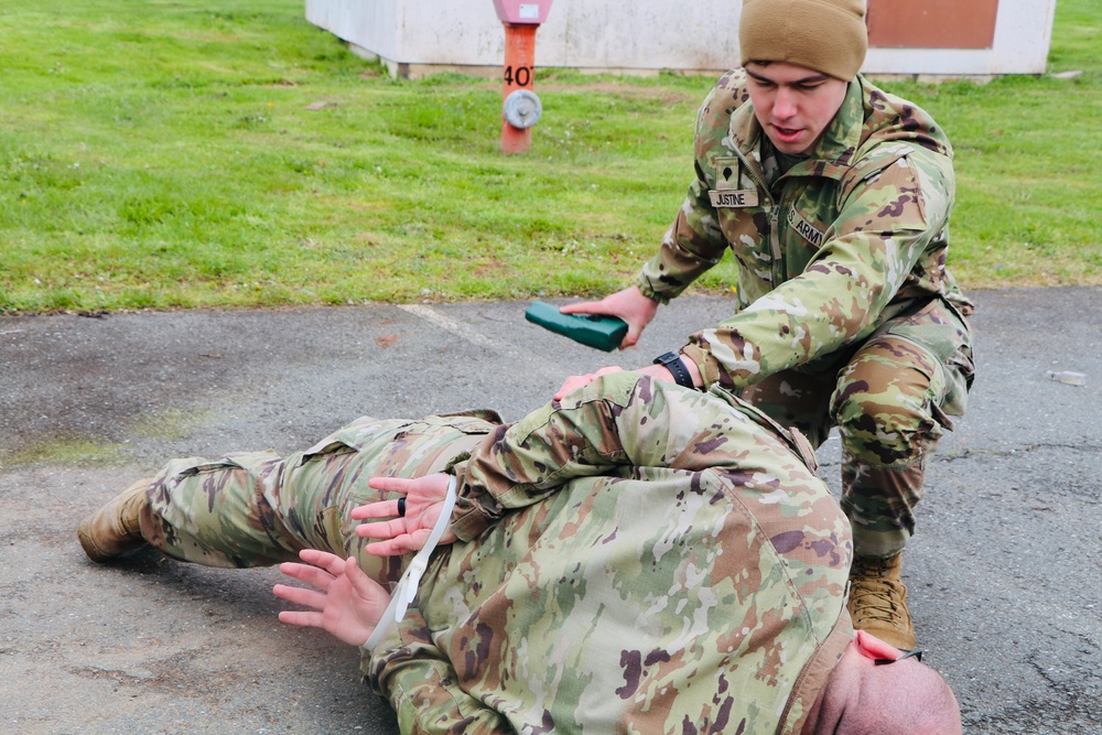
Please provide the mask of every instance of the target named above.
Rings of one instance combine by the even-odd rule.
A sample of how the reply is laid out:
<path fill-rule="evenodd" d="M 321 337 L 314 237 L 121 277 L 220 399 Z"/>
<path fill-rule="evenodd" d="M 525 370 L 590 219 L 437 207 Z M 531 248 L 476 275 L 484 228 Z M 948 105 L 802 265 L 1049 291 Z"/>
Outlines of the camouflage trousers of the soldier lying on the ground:
<path fill-rule="evenodd" d="M 397 582 L 408 559 L 364 551 L 356 506 L 387 499 L 376 475 L 440 472 L 500 419 L 491 411 L 417 421 L 363 418 L 305 452 L 173 460 L 142 509 L 142 536 L 165 555 L 206 566 L 266 566 L 296 561 L 302 549 L 356 556 L 369 576 Z"/>

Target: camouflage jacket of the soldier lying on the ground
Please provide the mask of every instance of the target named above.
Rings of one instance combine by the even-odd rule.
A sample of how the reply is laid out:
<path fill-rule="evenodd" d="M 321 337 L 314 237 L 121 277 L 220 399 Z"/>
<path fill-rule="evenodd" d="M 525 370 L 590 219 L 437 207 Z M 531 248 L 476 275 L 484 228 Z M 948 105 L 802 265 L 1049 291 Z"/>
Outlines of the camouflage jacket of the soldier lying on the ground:
<path fill-rule="evenodd" d="M 853 637 L 809 463 L 726 391 L 633 372 L 499 426 L 450 463 L 467 541 L 368 680 L 406 733 L 799 733 Z"/>

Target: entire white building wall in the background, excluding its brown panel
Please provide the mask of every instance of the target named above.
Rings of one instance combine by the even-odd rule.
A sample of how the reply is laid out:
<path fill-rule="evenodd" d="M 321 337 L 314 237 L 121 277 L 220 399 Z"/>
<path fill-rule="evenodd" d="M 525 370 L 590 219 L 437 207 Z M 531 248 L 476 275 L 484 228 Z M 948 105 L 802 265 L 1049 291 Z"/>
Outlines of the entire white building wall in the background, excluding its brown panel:
<path fill-rule="evenodd" d="M 961 0 L 966 2 L 968 0 Z M 505 33 L 491 0 L 305 0 L 306 19 L 402 76 L 496 74 Z M 722 72 L 738 64 L 742 0 L 555 0 L 536 65 L 585 71 Z M 1045 72 L 1056 0 L 1001 0 L 992 48 L 871 47 L 869 74 Z M 483 67 L 483 68 L 478 68 Z"/>

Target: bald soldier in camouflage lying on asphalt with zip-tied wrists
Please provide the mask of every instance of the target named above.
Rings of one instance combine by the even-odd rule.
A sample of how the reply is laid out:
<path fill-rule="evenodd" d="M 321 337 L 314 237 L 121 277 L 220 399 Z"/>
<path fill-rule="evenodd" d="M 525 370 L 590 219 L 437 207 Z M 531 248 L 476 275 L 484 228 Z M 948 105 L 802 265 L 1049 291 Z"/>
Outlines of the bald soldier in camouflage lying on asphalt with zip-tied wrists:
<path fill-rule="evenodd" d="M 284 458 L 173 461 L 79 538 L 99 562 L 283 562 L 313 588 L 277 585 L 307 608 L 280 618 L 374 634 L 363 670 L 403 733 L 960 733 L 937 672 L 854 633 L 813 461 L 723 389 L 619 372 L 512 425 L 360 419 Z M 380 624 L 411 562 L 390 554 L 439 517 L 415 604 Z"/>

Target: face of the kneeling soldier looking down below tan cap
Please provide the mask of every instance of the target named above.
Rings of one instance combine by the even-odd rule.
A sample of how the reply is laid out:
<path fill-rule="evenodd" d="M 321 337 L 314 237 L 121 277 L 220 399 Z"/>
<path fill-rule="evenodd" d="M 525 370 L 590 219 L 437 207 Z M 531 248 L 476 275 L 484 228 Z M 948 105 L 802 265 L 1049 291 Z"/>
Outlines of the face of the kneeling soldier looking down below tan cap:
<path fill-rule="evenodd" d="M 810 153 L 845 99 L 845 82 L 796 64 L 748 62 L 746 74 L 755 117 L 789 155 Z"/>

